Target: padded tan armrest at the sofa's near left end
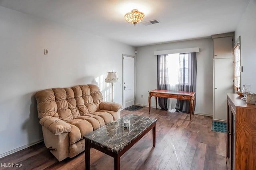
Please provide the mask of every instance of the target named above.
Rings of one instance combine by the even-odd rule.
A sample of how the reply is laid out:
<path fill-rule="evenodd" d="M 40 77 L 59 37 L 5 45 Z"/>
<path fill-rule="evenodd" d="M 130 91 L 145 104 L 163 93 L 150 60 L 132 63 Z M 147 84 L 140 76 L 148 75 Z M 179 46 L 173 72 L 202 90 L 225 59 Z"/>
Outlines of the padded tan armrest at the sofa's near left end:
<path fill-rule="evenodd" d="M 54 135 L 71 131 L 71 126 L 68 123 L 56 117 L 45 116 L 40 119 L 39 123 Z"/>

